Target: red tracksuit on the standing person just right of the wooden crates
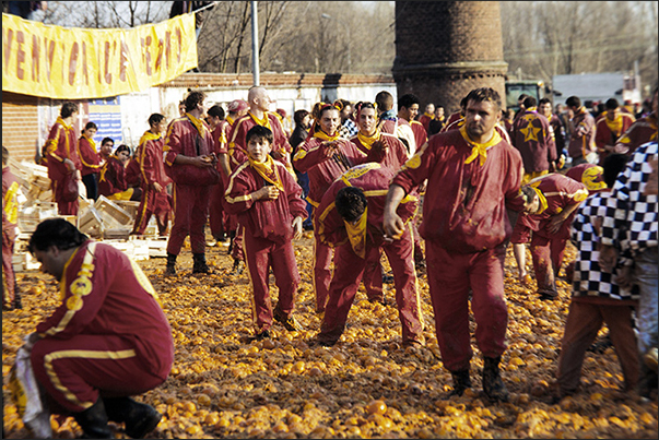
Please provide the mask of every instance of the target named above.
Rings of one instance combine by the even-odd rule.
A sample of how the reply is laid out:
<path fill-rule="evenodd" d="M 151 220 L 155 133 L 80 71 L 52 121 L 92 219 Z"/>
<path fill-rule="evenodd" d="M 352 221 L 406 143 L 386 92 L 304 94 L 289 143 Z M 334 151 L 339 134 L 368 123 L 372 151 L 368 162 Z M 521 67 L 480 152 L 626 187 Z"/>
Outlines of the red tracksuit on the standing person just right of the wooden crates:
<path fill-rule="evenodd" d="M 133 159 L 140 171 L 140 182 L 142 183 L 142 200 L 138 207 L 136 223 L 132 229 L 133 234 L 142 235 L 149 225 L 149 219 L 155 215 L 160 235 L 165 235 L 169 218 L 169 194 L 166 187 L 172 179 L 165 174 L 165 164 L 163 162 L 163 144 L 165 141 L 158 134 L 151 131 L 144 132 L 138 146 L 138 156 Z M 162 190 L 157 192 L 153 183 L 160 183 Z"/>

